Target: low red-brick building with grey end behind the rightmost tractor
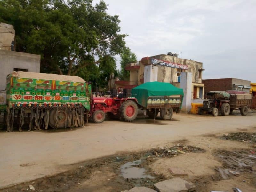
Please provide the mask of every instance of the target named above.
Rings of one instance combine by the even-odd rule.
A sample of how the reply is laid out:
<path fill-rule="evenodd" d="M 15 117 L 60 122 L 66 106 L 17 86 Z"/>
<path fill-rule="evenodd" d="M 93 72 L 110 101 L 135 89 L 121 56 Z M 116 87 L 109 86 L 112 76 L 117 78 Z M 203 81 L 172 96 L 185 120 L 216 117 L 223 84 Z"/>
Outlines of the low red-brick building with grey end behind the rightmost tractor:
<path fill-rule="evenodd" d="M 239 90 L 250 92 L 251 81 L 236 79 L 236 78 L 223 78 L 223 79 L 203 79 L 204 94 L 209 91 L 226 91 L 226 90 Z"/>

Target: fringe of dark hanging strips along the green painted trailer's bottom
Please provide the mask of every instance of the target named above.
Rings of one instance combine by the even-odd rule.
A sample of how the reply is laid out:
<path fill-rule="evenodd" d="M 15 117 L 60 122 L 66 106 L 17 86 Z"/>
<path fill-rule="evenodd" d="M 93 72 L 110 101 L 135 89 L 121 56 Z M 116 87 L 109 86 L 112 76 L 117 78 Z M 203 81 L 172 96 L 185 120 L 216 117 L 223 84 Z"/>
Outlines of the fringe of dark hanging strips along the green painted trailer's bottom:
<path fill-rule="evenodd" d="M 29 112 L 30 113 L 29 113 Z M 16 114 L 15 114 L 16 112 Z M 19 123 L 19 131 L 27 120 L 29 123 L 29 131 L 52 128 L 72 128 L 84 126 L 84 115 L 86 115 L 86 123 L 89 114 L 85 113 L 83 106 L 79 107 L 15 107 L 7 109 L 6 132 L 14 131 L 14 122 Z"/>

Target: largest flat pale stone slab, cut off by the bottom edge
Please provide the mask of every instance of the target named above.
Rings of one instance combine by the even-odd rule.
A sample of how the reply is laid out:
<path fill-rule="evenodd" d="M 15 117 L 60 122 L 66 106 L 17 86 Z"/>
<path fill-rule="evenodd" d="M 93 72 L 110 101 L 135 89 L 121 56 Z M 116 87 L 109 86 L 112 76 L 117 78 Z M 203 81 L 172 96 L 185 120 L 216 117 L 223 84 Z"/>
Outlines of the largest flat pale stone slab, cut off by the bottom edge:
<path fill-rule="evenodd" d="M 154 186 L 159 192 L 189 192 L 196 189 L 195 185 L 180 177 L 156 183 Z"/>

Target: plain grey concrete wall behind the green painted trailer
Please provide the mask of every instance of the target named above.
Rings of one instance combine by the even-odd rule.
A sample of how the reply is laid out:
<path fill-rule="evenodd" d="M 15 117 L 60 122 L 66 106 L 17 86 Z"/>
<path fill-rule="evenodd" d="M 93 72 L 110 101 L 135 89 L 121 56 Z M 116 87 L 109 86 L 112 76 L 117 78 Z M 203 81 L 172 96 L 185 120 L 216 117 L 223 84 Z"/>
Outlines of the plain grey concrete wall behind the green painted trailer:
<path fill-rule="evenodd" d="M 39 73 L 40 55 L 0 50 L 0 66 L 0 90 L 5 90 L 6 76 L 13 71 L 13 68 Z"/>

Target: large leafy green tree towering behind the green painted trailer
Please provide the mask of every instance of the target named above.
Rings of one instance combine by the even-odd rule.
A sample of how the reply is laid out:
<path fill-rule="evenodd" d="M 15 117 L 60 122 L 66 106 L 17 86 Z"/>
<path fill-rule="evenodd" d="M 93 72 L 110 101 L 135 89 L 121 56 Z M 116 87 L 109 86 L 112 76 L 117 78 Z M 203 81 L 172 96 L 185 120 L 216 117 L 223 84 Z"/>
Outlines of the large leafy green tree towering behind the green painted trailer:
<path fill-rule="evenodd" d="M 76 75 L 125 48 L 120 20 L 106 10 L 103 1 L 2 0 L 0 22 L 14 26 L 17 51 L 41 55 L 41 72 Z"/>

